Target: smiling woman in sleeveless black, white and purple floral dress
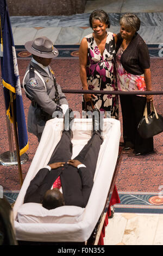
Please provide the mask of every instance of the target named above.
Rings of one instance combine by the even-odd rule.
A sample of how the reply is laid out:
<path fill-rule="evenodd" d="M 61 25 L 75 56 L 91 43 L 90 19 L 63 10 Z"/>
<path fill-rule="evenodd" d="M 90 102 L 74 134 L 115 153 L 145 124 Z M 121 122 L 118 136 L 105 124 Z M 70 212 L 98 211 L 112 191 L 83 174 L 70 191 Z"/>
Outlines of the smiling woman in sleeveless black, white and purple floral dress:
<path fill-rule="evenodd" d="M 116 35 L 106 31 L 109 17 L 103 10 L 90 15 L 93 33 L 85 36 L 80 44 L 80 78 L 84 90 L 117 90 L 115 83 L 114 56 Z M 84 94 L 83 111 L 98 108 L 104 117 L 118 118 L 118 95 Z"/>

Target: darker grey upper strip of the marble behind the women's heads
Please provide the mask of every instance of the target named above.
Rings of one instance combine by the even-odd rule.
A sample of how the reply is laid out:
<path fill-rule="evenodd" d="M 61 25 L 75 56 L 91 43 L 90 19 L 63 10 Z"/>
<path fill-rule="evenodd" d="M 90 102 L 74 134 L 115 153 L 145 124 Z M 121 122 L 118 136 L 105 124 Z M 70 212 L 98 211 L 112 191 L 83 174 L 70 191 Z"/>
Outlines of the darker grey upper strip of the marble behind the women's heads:
<path fill-rule="evenodd" d="M 141 26 L 163 26 L 163 13 L 135 13 Z M 121 13 L 108 13 L 112 26 L 119 26 Z M 87 27 L 90 13 L 74 15 L 10 16 L 13 27 Z"/>

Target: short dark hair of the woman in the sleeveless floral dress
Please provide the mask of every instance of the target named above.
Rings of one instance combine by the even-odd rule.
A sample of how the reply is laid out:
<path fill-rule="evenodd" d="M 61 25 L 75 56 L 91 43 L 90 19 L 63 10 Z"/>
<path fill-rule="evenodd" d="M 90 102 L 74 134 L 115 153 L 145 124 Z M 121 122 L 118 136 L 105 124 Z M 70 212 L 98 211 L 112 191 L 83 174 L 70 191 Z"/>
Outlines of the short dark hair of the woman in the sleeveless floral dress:
<path fill-rule="evenodd" d="M 92 28 L 92 20 L 99 20 L 99 21 L 105 23 L 106 25 L 108 25 L 108 28 L 110 28 L 109 16 L 102 9 L 96 9 L 96 10 L 92 11 L 92 13 L 90 15 L 90 19 L 89 19 L 91 28 Z"/>

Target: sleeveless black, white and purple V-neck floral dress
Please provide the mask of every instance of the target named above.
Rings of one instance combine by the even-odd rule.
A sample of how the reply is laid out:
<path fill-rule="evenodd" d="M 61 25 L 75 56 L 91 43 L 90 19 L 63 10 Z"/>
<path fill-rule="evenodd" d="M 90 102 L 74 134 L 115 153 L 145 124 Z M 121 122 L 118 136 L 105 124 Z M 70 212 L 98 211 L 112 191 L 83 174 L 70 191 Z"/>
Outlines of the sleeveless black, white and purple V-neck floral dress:
<path fill-rule="evenodd" d="M 98 49 L 93 34 L 85 36 L 87 39 L 87 85 L 89 90 L 117 90 L 115 83 L 115 39 L 111 32 L 107 32 L 103 55 Z M 93 94 L 93 92 L 92 92 Z M 96 94 L 92 104 L 104 113 L 104 117 L 118 118 L 118 95 Z M 83 97 L 83 111 L 92 111 L 90 102 L 85 102 Z"/>

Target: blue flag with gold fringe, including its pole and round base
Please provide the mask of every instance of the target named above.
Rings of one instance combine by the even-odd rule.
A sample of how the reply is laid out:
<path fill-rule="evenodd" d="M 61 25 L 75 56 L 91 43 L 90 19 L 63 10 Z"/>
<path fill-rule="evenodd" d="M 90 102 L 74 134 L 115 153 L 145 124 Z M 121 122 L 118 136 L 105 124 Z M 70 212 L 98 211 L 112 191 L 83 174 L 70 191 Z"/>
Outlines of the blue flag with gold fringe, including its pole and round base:
<path fill-rule="evenodd" d="M 14 46 L 14 39 L 12 35 L 12 28 L 10 23 L 10 17 L 8 13 L 8 7 L 6 0 L 1 1 L 0 8 L 0 39 L 1 39 L 1 71 L 3 78 L 3 89 L 5 107 L 7 109 L 7 115 L 10 123 L 8 123 L 8 137 L 9 147 L 11 152 L 7 151 L 0 155 L 0 164 L 4 166 L 18 165 L 18 172 L 20 176 L 20 184 L 22 186 L 22 169 L 21 160 L 27 160 L 25 152 L 28 150 L 28 134 L 26 129 L 26 120 L 23 109 L 23 101 L 21 95 L 20 77 L 18 74 L 16 51 Z M 16 97 L 16 99 L 15 99 Z M 15 108 L 16 105 L 16 108 Z M 20 109 L 20 111 L 19 111 Z M 10 111 L 12 113 L 10 113 Z M 13 120 L 12 120 L 13 119 Z M 14 125 L 15 144 L 16 151 L 14 151 L 14 143 L 11 134 L 11 123 Z M 22 136 L 21 136 L 22 134 Z M 16 154 L 15 154 L 16 153 Z M 20 156 L 21 155 L 21 156 Z M 25 155 L 25 156 L 24 156 Z M 26 157 L 27 156 L 27 157 Z M 8 158 L 8 159 L 7 159 Z M 10 164 L 7 164 L 7 160 L 17 160 Z M 5 160 L 4 162 L 1 160 Z M 8 161 L 9 162 L 9 161 Z"/>

